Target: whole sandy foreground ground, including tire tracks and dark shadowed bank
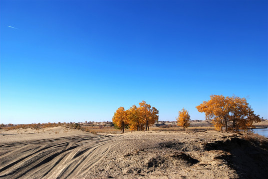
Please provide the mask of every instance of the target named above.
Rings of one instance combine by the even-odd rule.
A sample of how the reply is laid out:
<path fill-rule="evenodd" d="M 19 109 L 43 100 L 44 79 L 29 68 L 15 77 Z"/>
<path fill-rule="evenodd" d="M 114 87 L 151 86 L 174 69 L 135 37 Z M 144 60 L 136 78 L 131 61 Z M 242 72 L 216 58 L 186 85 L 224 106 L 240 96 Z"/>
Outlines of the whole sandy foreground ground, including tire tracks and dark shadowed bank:
<path fill-rule="evenodd" d="M 3 179 L 265 179 L 268 145 L 221 132 L 0 130 Z"/>

